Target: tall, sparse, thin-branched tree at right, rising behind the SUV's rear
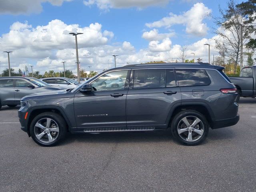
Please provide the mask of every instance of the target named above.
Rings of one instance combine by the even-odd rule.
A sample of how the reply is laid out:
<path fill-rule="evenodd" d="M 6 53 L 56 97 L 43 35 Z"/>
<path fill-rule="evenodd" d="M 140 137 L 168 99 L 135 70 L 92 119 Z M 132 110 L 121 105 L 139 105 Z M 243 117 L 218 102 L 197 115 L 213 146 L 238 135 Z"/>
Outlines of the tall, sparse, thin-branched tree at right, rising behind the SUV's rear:
<path fill-rule="evenodd" d="M 234 63 L 234 73 L 236 73 L 237 64 L 240 59 L 241 26 L 243 26 L 243 38 L 245 41 L 249 38 L 248 24 L 245 24 L 246 15 L 239 6 L 236 6 L 234 0 L 227 3 L 227 9 L 219 8 L 220 18 L 215 18 L 218 28 L 214 32 L 220 37 L 215 39 L 216 48 L 225 54 L 232 63 Z M 244 42 L 245 42 L 244 41 Z"/>

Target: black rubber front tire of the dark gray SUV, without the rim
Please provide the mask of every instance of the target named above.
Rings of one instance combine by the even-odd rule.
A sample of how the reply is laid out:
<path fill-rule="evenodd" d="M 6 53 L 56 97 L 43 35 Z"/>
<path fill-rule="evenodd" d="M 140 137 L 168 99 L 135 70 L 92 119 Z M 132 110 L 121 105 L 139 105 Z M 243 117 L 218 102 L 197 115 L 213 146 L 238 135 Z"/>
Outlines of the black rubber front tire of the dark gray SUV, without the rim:
<path fill-rule="evenodd" d="M 54 141 L 50 142 L 50 143 L 40 141 L 38 138 L 36 138 L 36 135 L 35 135 L 35 125 L 36 125 L 36 123 L 39 120 L 42 120 L 44 118 L 50 118 L 50 119 L 54 120 L 54 123 L 56 122 L 56 124 L 59 128 L 57 138 Z M 66 124 L 64 118 L 62 116 L 60 116 L 59 114 L 56 114 L 54 112 L 41 113 L 41 114 L 37 115 L 32 120 L 32 122 L 30 124 L 30 135 L 31 135 L 32 139 L 37 144 L 39 144 L 41 146 L 45 146 L 45 147 L 55 146 L 56 144 L 58 144 L 61 140 L 63 140 L 65 138 L 66 132 L 67 132 L 67 124 Z"/>

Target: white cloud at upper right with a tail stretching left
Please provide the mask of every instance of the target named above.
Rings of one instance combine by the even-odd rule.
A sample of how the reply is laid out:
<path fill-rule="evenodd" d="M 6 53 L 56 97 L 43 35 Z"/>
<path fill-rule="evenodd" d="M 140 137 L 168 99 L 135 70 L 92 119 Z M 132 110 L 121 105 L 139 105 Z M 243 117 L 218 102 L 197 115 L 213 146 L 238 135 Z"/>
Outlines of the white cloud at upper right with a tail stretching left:
<path fill-rule="evenodd" d="M 146 23 L 149 28 L 170 28 L 175 24 L 183 24 L 186 26 L 186 32 L 195 36 L 205 36 L 208 31 L 206 23 L 203 23 L 204 18 L 209 16 L 212 12 L 211 9 L 206 7 L 203 3 L 196 3 L 194 6 L 184 12 L 183 14 L 176 15 L 170 13 L 168 17 L 164 17 L 161 20 Z"/>

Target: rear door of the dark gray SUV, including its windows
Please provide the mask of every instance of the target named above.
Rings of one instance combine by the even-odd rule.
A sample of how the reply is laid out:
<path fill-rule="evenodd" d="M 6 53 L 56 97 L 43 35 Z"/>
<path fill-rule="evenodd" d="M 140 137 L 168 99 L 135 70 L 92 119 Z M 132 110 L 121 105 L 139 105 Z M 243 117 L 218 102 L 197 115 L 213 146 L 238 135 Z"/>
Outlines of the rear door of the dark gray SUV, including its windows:
<path fill-rule="evenodd" d="M 126 97 L 127 128 L 167 128 L 167 116 L 180 102 L 173 69 L 134 70 Z"/>

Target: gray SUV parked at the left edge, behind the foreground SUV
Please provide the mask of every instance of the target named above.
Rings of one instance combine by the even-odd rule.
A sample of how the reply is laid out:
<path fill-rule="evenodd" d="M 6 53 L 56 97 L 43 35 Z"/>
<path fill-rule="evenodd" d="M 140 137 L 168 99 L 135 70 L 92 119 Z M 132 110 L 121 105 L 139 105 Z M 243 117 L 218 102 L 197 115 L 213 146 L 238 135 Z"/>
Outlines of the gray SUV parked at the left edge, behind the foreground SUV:
<path fill-rule="evenodd" d="M 32 77 L 0 77 L 0 108 L 3 105 L 14 107 L 20 104 L 20 99 L 26 95 L 61 90 Z"/>

